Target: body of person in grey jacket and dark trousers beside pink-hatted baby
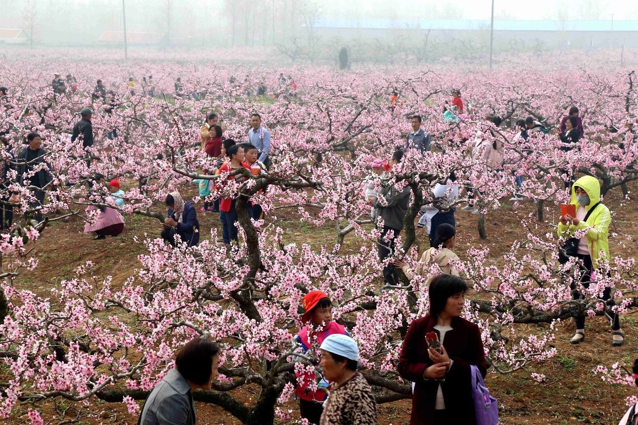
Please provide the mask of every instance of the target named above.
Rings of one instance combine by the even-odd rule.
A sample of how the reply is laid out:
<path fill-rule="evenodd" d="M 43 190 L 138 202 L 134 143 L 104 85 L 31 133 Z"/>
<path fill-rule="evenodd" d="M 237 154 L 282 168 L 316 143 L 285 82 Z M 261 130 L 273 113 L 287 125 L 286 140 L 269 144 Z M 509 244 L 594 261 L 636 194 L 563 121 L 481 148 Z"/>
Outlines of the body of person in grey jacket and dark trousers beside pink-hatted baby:
<path fill-rule="evenodd" d="M 383 198 L 383 203 L 379 201 Z M 385 259 L 394 252 L 394 239 L 403 229 L 405 214 L 408 213 L 410 205 L 410 186 L 405 186 L 403 190 L 398 190 L 394 186 L 382 188 L 377 197 L 369 197 L 368 202 L 375 207 L 377 220 L 383 219 L 383 229 L 379 238 L 379 259 L 385 263 Z M 392 237 L 389 233 L 392 232 Z M 398 278 L 396 269 L 392 263 L 383 267 L 383 281 L 389 285 L 396 285 Z"/>

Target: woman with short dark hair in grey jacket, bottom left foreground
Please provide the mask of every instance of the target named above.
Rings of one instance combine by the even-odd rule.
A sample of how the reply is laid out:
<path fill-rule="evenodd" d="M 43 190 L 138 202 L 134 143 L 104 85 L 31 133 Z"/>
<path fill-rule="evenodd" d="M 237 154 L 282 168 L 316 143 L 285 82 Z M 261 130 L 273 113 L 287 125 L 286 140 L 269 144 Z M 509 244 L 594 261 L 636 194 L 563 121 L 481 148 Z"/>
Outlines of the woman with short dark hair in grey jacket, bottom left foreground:
<path fill-rule="evenodd" d="M 175 355 L 175 368 L 144 402 L 139 425 L 195 425 L 193 391 L 209 390 L 218 375 L 219 346 L 195 338 Z"/>

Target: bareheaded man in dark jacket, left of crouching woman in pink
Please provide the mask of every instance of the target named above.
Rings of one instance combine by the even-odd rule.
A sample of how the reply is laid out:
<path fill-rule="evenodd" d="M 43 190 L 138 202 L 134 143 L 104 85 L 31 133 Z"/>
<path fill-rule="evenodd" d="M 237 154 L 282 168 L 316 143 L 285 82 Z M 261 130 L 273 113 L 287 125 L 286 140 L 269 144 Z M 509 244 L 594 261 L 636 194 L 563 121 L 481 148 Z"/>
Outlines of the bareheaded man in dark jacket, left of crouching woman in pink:
<path fill-rule="evenodd" d="M 53 177 L 49 171 L 50 165 L 48 165 L 47 161 L 45 161 L 45 156 L 47 155 L 47 150 L 43 149 L 42 139 L 38 133 L 29 133 L 27 135 L 27 142 L 29 145 L 22 149 L 18 154 L 17 160 L 17 172 L 18 172 L 18 183 L 21 186 L 33 186 L 34 188 L 45 188 L 48 183 L 53 180 Z M 36 168 L 41 163 L 44 163 L 45 166 L 41 167 L 35 174 L 27 177 L 25 181 L 25 174 L 30 174 L 31 171 Z M 34 189 L 34 196 L 36 197 L 36 202 L 31 202 L 29 206 L 31 209 L 39 208 L 44 204 L 44 196 L 45 191 Z M 42 214 L 40 210 L 34 214 L 36 220 L 42 220 Z"/>

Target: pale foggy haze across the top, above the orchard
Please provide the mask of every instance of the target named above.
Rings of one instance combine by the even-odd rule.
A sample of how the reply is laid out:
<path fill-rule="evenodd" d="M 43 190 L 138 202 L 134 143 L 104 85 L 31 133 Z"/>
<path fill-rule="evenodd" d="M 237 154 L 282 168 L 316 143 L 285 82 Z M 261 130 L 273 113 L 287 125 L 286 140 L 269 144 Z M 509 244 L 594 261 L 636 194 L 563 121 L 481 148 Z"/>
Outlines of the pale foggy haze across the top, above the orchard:
<path fill-rule="evenodd" d="M 262 47 L 314 63 L 345 48 L 350 62 L 423 63 L 479 60 L 490 44 L 491 0 L 0 0 L 0 28 L 22 30 L 0 30 L 0 48 L 121 49 L 122 4 L 131 49 Z M 496 0 L 494 19 L 496 56 L 638 48 L 635 0 Z"/>

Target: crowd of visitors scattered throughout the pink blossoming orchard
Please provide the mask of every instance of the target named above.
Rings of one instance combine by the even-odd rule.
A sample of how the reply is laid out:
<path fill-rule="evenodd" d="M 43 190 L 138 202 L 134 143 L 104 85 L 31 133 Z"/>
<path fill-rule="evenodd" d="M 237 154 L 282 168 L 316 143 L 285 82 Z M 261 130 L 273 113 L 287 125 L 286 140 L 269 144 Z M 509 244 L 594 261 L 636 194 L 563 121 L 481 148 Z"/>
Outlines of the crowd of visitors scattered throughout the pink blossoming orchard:
<path fill-rule="evenodd" d="M 73 88 L 73 77 L 66 80 L 59 74 L 51 84 L 54 93 L 64 94 Z M 279 77 L 279 91 L 296 90 L 296 83 L 291 77 Z M 127 83 L 129 93 L 135 96 L 137 83 L 131 77 Z M 288 89 L 287 87 L 290 87 Z M 260 93 L 262 87 L 257 90 Z M 144 77 L 142 91 L 154 96 L 152 76 Z M 6 89 L 4 89 L 6 94 Z M 184 94 L 180 78 L 175 82 L 176 96 Z M 97 81 L 92 94 L 93 98 L 107 100 L 111 113 L 117 107 L 112 91 L 108 91 L 101 80 Z M 110 97 L 109 97 L 110 96 Z M 397 93 L 393 94 L 391 107 L 398 105 Z M 197 100 L 197 99 L 196 99 Z M 445 102 L 443 120 L 457 123 L 470 105 L 464 105 L 461 92 L 452 92 L 452 101 Z M 82 144 L 84 149 L 94 144 L 91 120 L 91 108 L 80 111 L 80 120 L 73 126 L 71 141 Z M 491 124 L 492 137 L 477 135 L 471 145 L 468 158 L 482 161 L 486 167 L 499 170 L 503 166 L 503 143 L 494 137 L 502 121 L 500 117 L 485 117 Z M 459 257 L 454 252 L 456 245 L 456 208 L 448 207 L 459 200 L 459 186 L 455 183 L 454 173 L 450 174 L 445 184 L 438 183 L 433 187 L 431 198 L 434 202 L 423 205 L 419 218 L 419 228 L 429 235 L 430 247 L 422 253 L 415 269 L 405 260 L 394 255 L 396 238 L 404 228 L 404 220 L 411 202 L 409 186 L 398 189 L 390 184 L 375 186 L 375 179 L 387 179 L 392 166 L 401 162 L 408 149 L 416 149 L 425 153 L 433 149 L 433 136 L 422 128 L 422 117 L 412 116 L 412 131 L 405 137 L 404 144 L 397 149 L 389 160 L 371 161 L 373 172 L 371 182 L 367 184 L 365 197 L 371 207 L 371 220 L 376 224 L 383 221 L 378 238 L 378 256 L 383 263 L 383 281 L 385 285 L 396 287 L 401 285 L 399 271 L 408 280 L 415 276 L 426 278 L 429 287 L 429 313 L 414 320 L 405 335 L 401 354 L 397 364 L 399 375 L 412 382 L 412 414 L 411 424 L 456 424 L 477 423 L 472 406 L 473 377 L 486 375 L 486 359 L 479 327 L 461 317 L 465 305 L 465 295 L 469 288 L 463 278 L 459 277 L 457 264 Z M 165 197 L 167 216 L 163 221 L 161 238 L 172 246 L 180 242 L 195 246 L 200 241 L 200 223 L 198 213 L 219 213 L 223 242 L 230 246 L 238 241 L 237 209 L 239 202 L 234 197 L 214 197 L 211 194 L 225 184 L 241 183 L 246 179 L 237 170 L 246 169 L 252 175 L 267 172 L 272 167 L 271 133 L 262 124 L 260 114 L 250 116 L 250 128 L 246 132 L 246 142 L 237 143 L 224 137 L 225 124 L 220 123 L 214 112 L 207 114 L 200 126 L 200 140 L 195 145 L 214 161 L 214 167 L 203 170 L 204 175 L 217 175 L 223 178 L 194 179 L 198 195 L 204 199 L 200 209 L 193 203 L 184 200 L 179 191 L 174 190 Z M 519 119 L 514 126 L 516 137 L 523 140 L 535 132 L 549 133 L 547 126 L 535 117 Z M 582 120 L 577 107 L 570 108 L 568 114 L 561 119 L 558 140 L 561 149 L 568 152 L 574 149 L 584 137 Z M 116 129 L 107 137 L 117 137 Z M 27 146 L 16 156 L 18 183 L 33 189 L 36 202 L 31 205 L 36 211 L 34 218 L 41 220 L 38 209 L 44 204 L 45 190 L 52 182 L 52 175 L 46 165 L 47 151 L 42 147 L 38 133 L 26 135 Z M 2 140 L 8 145 L 6 139 Z M 89 158 L 87 161 L 91 161 Z M 8 164 L 5 163 L 3 184 L 7 187 Z M 36 168 L 38 167 L 38 168 Z M 32 170 L 37 169 L 35 173 Z M 25 181 L 24 175 L 30 175 Z M 523 179 L 514 176 L 517 188 L 522 188 Z M 375 189 L 378 187 L 378 189 Z M 591 276 L 600 264 L 601 252 L 609 258 L 607 234 L 611 223 L 609 209 L 601 203 L 600 185 L 595 177 L 584 176 L 575 182 L 567 182 L 572 194 L 570 204 L 575 207 L 575 215 L 563 214 L 558 223 L 558 235 L 567 237 L 570 243 L 565 250 L 568 257 L 576 257 L 582 270 L 581 283 L 587 288 Z M 475 202 L 480 198 L 479 191 L 471 187 L 467 192 L 467 205 L 462 211 L 479 214 L 480 209 Z M 93 233 L 94 239 L 116 237 L 124 231 L 124 218 L 120 208 L 126 200 L 126 193 L 121 189 L 117 179 L 107 183 L 104 175 L 94 177 L 94 193 L 108 193 L 104 202 L 90 206 L 88 211 L 95 215 L 95 220 L 87 223 L 84 232 Z M 6 198 L 17 202 L 15 198 Z M 524 199 L 522 191 L 514 193 L 515 202 Z M 254 220 L 263 219 L 260 205 L 251 202 L 245 204 L 246 212 Z M 7 204 L 1 209 L 2 226 L 7 229 L 13 221 L 13 211 Z M 584 231 L 584 233 L 582 232 Z M 579 232 L 581 237 L 575 238 Z M 389 258 L 392 258 L 389 260 Z M 583 295 L 572 285 L 574 299 Z M 606 308 L 611 311 L 613 300 L 611 288 L 605 288 L 602 299 L 608 301 Z M 304 326 L 293 338 L 293 350 L 297 361 L 306 361 L 318 366 L 315 372 L 296 373 L 297 387 L 295 394 L 299 399 L 300 415 L 310 424 L 375 424 L 377 421 L 375 396 L 364 375 L 358 372 L 359 347 L 350 338 L 346 328 L 332 320 L 332 301 L 318 290 L 311 290 L 302 300 L 304 313 L 301 322 Z M 619 316 L 611 313 L 612 346 L 619 347 L 625 341 L 625 334 L 620 327 Z M 585 339 L 585 317 L 575 318 L 576 331 L 570 343 L 579 344 Z M 426 338 L 424 338 L 426 336 Z M 320 355 L 306 357 L 309 350 L 318 348 Z M 172 369 L 146 399 L 140 417 L 140 423 L 150 424 L 194 424 L 195 406 L 192 392 L 197 389 L 211 389 L 217 376 L 217 365 L 221 348 L 207 339 L 196 338 L 189 341 L 177 353 L 175 368 Z M 308 360 L 309 359 L 309 360 Z M 315 385 L 316 384 L 316 385 Z"/>

